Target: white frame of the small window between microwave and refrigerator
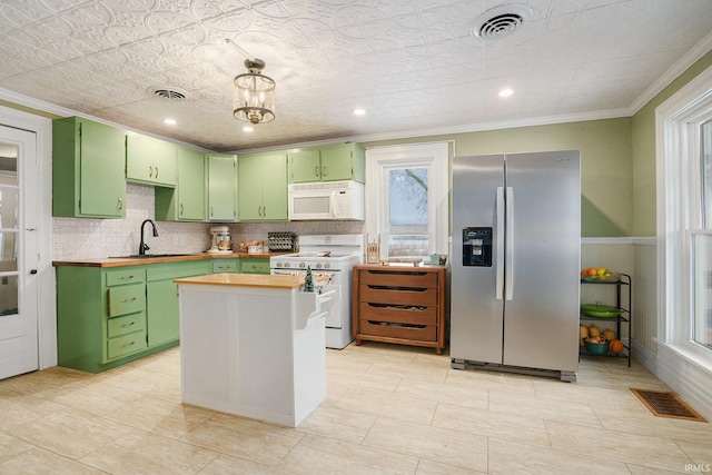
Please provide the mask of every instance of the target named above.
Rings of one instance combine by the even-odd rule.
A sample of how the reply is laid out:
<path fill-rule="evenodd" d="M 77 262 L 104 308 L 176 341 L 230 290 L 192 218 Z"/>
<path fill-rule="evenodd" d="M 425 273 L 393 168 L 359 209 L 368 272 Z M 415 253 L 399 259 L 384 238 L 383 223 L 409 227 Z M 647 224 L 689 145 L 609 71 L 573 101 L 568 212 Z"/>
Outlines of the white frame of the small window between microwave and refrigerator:
<path fill-rule="evenodd" d="M 394 168 L 428 168 L 428 254 L 449 254 L 449 144 L 425 142 L 374 147 L 366 150 L 366 221 L 364 231 L 380 235 L 380 256 L 388 241 L 388 171 Z"/>

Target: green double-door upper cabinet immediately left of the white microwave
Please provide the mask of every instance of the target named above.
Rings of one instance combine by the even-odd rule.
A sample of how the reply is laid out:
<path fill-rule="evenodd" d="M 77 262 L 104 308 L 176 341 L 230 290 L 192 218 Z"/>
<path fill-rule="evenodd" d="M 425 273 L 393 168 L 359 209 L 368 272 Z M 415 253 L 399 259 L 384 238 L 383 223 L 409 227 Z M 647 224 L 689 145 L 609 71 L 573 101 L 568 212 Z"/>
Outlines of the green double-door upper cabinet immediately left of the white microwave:
<path fill-rule="evenodd" d="M 284 152 L 241 155 L 237 159 L 240 221 L 286 221 L 287 159 Z"/>

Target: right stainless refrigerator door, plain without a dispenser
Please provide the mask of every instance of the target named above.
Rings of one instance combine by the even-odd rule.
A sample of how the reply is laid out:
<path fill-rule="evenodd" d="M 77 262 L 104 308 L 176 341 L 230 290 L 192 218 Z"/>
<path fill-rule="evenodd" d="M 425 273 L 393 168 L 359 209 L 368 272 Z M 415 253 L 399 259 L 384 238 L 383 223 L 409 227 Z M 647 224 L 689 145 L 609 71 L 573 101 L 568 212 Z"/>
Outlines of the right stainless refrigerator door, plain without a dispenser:
<path fill-rule="evenodd" d="M 507 249 L 504 358 L 508 366 L 578 367 L 581 171 L 578 151 L 505 158 Z M 511 299 L 510 299 L 511 298 Z"/>

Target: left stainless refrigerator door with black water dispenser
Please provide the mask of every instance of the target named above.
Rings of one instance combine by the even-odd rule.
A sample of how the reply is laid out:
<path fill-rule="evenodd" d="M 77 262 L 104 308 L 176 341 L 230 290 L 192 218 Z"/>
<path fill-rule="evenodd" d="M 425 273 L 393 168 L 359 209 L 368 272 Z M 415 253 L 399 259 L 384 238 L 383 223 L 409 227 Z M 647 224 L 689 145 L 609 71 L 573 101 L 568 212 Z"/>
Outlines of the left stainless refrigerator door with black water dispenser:
<path fill-rule="evenodd" d="M 497 271 L 503 281 L 503 216 L 497 224 L 497 189 L 504 188 L 504 156 L 453 158 L 451 280 L 451 358 L 502 363 L 503 299 L 496 298 Z M 503 209 L 504 202 L 500 202 Z M 463 229 L 492 228 L 492 261 L 471 258 L 475 245 Z M 483 265 L 464 265 L 464 264 Z"/>

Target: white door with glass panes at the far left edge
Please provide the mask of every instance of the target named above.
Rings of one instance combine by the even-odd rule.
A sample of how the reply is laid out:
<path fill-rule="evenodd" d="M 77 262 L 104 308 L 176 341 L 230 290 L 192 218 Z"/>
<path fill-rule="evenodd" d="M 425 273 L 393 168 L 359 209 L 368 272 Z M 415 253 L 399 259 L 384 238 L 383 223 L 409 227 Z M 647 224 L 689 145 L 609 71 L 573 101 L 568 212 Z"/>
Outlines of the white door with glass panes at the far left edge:
<path fill-rule="evenodd" d="M 34 132 L 0 126 L 0 379 L 39 368 Z"/>

